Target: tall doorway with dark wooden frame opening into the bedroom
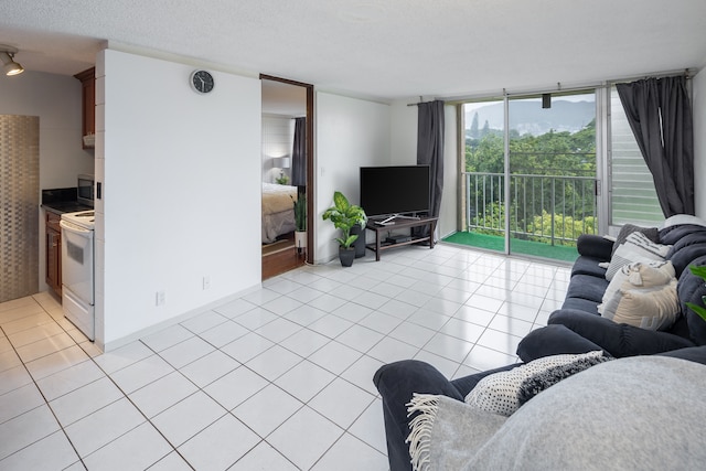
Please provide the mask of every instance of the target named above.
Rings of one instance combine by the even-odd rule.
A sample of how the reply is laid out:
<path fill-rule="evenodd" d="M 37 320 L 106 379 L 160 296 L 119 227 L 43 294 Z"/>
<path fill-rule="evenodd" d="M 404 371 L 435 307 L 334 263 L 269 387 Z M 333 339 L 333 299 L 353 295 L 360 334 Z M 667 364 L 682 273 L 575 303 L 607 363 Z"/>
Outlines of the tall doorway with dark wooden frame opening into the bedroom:
<path fill-rule="evenodd" d="M 312 227 L 313 86 L 269 75 L 260 79 L 263 279 L 267 279 L 314 259 L 312 232 L 300 232 Z"/>

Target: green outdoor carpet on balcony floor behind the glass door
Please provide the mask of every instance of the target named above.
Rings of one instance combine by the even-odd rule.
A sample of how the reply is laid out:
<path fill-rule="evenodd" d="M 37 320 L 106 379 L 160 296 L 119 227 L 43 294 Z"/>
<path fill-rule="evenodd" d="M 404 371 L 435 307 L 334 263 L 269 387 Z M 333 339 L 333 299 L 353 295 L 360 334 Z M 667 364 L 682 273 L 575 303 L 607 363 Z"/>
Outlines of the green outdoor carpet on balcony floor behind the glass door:
<path fill-rule="evenodd" d="M 504 251 L 505 239 L 501 236 L 457 232 L 443 238 L 451 244 L 467 245 L 469 247 L 484 248 L 488 250 Z M 576 247 L 549 245 L 539 242 L 510 239 L 510 250 L 513 254 L 532 255 L 533 257 L 550 258 L 553 260 L 575 261 L 578 257 Z"/>

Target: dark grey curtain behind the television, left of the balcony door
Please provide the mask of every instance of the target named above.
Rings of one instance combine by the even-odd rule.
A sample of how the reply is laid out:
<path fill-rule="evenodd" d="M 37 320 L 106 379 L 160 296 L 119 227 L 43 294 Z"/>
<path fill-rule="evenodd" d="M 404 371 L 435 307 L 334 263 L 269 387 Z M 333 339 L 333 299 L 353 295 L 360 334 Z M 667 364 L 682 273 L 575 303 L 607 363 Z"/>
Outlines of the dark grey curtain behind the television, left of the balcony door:
<path fill-rule="evenodd" d="M 443 101 L 420 103 L 417 108 L 417 164 L 429 165 L 431 180 L 429 215 L 438 217 L 443 192 Z"/>

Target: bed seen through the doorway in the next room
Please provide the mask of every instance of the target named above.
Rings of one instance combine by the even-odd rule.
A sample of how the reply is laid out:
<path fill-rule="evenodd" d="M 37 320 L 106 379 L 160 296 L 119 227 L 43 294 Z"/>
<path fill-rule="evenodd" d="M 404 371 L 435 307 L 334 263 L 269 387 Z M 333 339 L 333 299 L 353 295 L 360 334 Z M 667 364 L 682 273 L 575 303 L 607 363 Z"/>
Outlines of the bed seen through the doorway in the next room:
<path fill-rule="evenodd" d="M 263 244 L 295 231 L 297 186 L 263 182 Z"/>

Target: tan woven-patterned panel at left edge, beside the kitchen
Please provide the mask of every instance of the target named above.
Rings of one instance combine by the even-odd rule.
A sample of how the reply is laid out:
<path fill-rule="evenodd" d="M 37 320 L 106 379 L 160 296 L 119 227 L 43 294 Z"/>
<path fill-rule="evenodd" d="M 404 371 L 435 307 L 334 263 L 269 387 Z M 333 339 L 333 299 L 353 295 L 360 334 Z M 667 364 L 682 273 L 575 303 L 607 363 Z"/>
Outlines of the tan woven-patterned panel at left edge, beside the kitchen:
<path fill-rule="evenodd" d="M 39 291 L 40 118 L 0 115 L 0 302 Z"/>

